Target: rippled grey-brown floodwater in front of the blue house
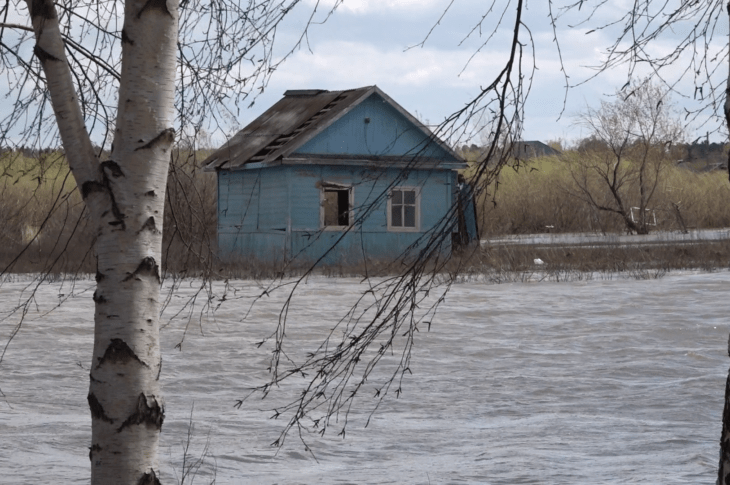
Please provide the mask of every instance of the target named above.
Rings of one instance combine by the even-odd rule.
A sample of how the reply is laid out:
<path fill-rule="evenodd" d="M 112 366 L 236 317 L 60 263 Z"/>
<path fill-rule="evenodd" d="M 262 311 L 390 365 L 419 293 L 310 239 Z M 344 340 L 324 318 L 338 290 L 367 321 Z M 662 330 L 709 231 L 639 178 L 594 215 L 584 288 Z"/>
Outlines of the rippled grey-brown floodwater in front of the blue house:
<path fill-rule="evenodd" d="M 26 285 L 3 284 L 0 311 Z M 42 286 L 7 351 L 0 483 L 88 482 L 92 286 Z M 214 316 L 194 315 L 182 351 L 186 320 L 163 329 L 164 483 L 180 473 L 191 410 L 191 452 L 209 439 L 210 453 L 195 483 L 212 469 L 222 484 L 714 483 L 729 273 L 455 285 L 431 332 L 418 334 L 402 397 L 367 428 L 374 401 L 358 401 L 347 439 L 312 440 L 318 461 L 295 436 L 278 455 L 269 446 L 283 424 L 268 419 L 276 401 L 233 407 L 267 375 L 270 348 L 254 343 L 283 301 L 264 298 L 241 321 L 260 290 L 235 286 Z M 291 345 L 314 348 L 364 288 L 310 279 L 290 311 Z M 168 319 L 194 290 L 175 293 Z M 3 342 L 14 322 L 0 323 Z"/>

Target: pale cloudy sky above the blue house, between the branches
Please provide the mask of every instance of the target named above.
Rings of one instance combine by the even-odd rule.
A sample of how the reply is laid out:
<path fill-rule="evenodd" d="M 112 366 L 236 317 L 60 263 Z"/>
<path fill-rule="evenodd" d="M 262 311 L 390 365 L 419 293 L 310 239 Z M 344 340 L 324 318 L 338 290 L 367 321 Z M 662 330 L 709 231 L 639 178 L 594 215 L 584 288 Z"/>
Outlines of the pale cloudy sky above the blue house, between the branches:
<path fill-rule="evenodd" d="M 321 21 L 335 1 L 301 0 L 276 32 L 275 57 L 283 56 L 296 44 L 315 6 L 315 21 Z M 553 0 L 554 13 L 560 13 L 561 5 L 576 1 Z M 344 0 L 325 23 L 310 26 L 304 47 L 277 69 L 254 106 L 237 113 L 238 127 L 250 123 L 288 89 L 343 90 L 369 85 L 378 85 L 423 122 L 437 125 L 473 99 L 480 86 L 492 82 L 503 68 L 509 55 L 515 3 L 515 0 Z M 523 68 L 529 72 L 534 46 L 536 71 L 525 109 L 523 139 L 575 142 L 588 135 L 576 124 L 576 115 L 587 106 L 596 108 L 602 100 L 610 101 L 629 79 L 626 67 L 619 66 L 584 82 L 595 73 L 591 67 L 600 64 L 606 49 L 615 41 L 620 25 L 594 29 L 617 21 L 635 2 L 586 0 L 581 11 L 563 16 L 557 24 L 560 56 L 548 16 L 550 2 L 525 0 L 525 3 L 525 28 L 520 37 L 527 56 Z M 650 5 L 671 11 L 674 4 L 680 3 L 690 5 L 685 0 L 656 0 Z M 708 62 L 692 65 L 688 56 L 684 56 L 664 73 L 665 79 L 674 86 L 672 100 L 680 113 L 707 105 L 706 86 L 705 101 L 697 99 L 694 82 L 698 69 L 716 70 L 715 87 L 719 87 L 720 95 L 724 90 L 723 83 L 728 77 L 728 20 L 723 4 L 719 0 L 697 4 L 698 8 L 711 6 L 713 20 L 717 21 L 712 27 L 718 41 L 709 46 L 713 55 Z M 601 8 L 591 15 L 589 7 L 593 5 Z M 492 10 L 487 12 L 490 6 Z M 473 30 L 485 14 L 481 29 Z M 9 21 L 27 23 L 24 2 L 18 4 L 18 11 L 13 15 Z M 581 22 L 586 17 L 589 20 Z M 663 17 L 647 12 L 644 18 L 655 22 Z M 500 19 L 502 23 L 492 36 Z M 677 39 L 693 27 L 694 19 L 675 25 L 651 44 L 649 53 L 671 52 Z M 30 46 L 31 43 L 26 45 L 26 57 L 32 56 Z M 719 56 L 714 56 L 714 52 Z M 561 59 L 569 76 L 568 84 L 573 86 L 567 94 Z M 636 81 L 650 74 L 647 66 L 639 65 L 632 79 Z M 682 74 L 684 77 L 680 79 Z M 701 73 L 698 78 L 703 78 Z M 676 82 L 677 79 L 680 80 Z M 0 82 L 6 80 L 0 76 Z M 705 114 L 699 120 L 705 123 L 698 121 L 689 127 L 689 140 L 704 137 L 707 132 L 714 133 L 710 135 L 711 141 L 727 140 L 722 118 L 708 118 Z M 236 129 L 227 127 L 226 135 L 232 136 Z M 212 143 L 218 145 L 223 139 L 222 133 L 216 133 Z M 477 136 L 471 141 L 480 144 L 483 140 Z"/>

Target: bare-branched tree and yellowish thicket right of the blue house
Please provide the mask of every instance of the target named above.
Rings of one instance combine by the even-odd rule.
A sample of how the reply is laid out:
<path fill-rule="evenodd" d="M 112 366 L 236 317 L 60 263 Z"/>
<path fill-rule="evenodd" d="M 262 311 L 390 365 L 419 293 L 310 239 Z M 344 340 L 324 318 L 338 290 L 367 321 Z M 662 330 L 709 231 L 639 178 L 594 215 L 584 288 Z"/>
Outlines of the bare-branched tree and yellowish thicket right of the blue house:
<path fill-rule="evenodd" d="M 728 146 L 708 140 L 687 142 L 686 127 L 669 91 L 648 80 L 625 86 L 612 101 L 587 107 L 576 117 L 576 124 L 590 135 L 572 147 L 562 141 L 505 142 L 512 153 L 511 166 L 530 178 L 532 186 L 515 176 L 500 175 L 491 196 L 483 201 L 483 226 L 488 232 L 648 234 L 657 229 L 687 232 L 730 223 L 721 215 L 724 211 L 711 203 L 727 195 L 718 195 L 722 187 L 691 196 L 688 192 L 701 185 L 693 174 L 727 168 Z M 475 163 L 484 157 L 474 146 L 463 148 L 462 154 Z M 546 177 L 530 177 L 535 171 L 545 172 Z M 537 189 L 538 180 L 547 185 Z M 499 205 L 510 198 L 520 199 L 520 207 L 500 212 Z M 707 201 L 703 203 L 702 198 Z M 535 214 L 541 213 L 546 218 L 536 222 L 540 218 Z"/>

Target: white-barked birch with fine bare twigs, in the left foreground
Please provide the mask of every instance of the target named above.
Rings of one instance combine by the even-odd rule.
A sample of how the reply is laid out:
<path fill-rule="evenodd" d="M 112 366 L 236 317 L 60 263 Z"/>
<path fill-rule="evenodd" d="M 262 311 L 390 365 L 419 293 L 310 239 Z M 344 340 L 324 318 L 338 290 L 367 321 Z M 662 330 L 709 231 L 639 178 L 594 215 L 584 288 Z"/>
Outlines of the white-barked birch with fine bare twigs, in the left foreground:
<path fill-rule="evenodd" d="M 0 23 L 2 65 L 16 76 L 15 109 L 0 123 L 0 140 L 40 132 L 47 93 L 94 228 L 97 287 L 87 397 L 93 484 L 159 483 L 165 418 L 161 242 L 175 128 L 181 129 L 181 120 L 196 128 L 206 117 L 225 114 L 216 102 L 247 98 L 241 85 L 265 87 L 281 62 L 271 50 L 276 27 L 297 3 L 27 0 L 30 26 Z M 0 14 L 4 20 L 19 15 L 10 3 Z M 24 57 L 31 41 L 26 32 L 36 61 Z M 121 64 L 114 60 L 119 54 Z M 245 61 L 257 67 L 245 71 Z M 22 126 L 29 111 L 32 121 Z M 92 146 L 89 124 L 111 133 L 108 158 Z"/>

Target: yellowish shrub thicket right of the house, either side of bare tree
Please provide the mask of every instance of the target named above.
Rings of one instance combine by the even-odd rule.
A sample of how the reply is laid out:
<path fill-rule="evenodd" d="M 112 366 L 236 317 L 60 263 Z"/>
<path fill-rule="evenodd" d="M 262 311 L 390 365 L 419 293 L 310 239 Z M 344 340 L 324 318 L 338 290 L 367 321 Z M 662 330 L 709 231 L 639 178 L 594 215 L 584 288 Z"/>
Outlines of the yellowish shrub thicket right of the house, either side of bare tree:
<path fill-rule="evenodd" d="M 560 158 L 536 159 L 518 170 L 503 171 L 495 203 L 482 200 L 478 206 L 482 235 L 624 232 L 621 216 L 599 211 L 575 196 L 578 188 L 571 173 L 579 157 L 580 152 L 570 150 Z M 656 220 L 656 226 L 651 226 L 655 231 L 730 227 L 730 207 L 719 203 L 728 197 L 726 173 L 695 172 L 670 159 L 662 169 L 647 215 L 651 224 Z"/>

